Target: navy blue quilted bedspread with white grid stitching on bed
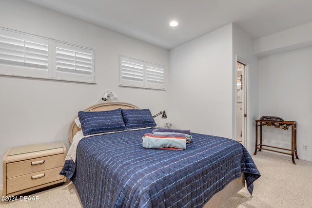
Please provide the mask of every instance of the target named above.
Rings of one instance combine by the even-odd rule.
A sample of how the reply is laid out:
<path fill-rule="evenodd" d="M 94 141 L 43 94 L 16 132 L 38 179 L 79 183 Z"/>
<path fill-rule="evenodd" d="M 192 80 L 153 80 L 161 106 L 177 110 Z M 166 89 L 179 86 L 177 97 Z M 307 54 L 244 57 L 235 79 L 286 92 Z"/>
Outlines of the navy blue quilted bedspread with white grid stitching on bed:
<path fill-rule="evenodd" d="M 66 160 L 61 174 L 71 178 L 83 207 L 203 207 L 242 172 L 252 194 L 260 173 L 240 143 L 192 133 L 186 150 L 144 149 L 141 138 L 153 129 L 79 142 L 76 163 Z"/>

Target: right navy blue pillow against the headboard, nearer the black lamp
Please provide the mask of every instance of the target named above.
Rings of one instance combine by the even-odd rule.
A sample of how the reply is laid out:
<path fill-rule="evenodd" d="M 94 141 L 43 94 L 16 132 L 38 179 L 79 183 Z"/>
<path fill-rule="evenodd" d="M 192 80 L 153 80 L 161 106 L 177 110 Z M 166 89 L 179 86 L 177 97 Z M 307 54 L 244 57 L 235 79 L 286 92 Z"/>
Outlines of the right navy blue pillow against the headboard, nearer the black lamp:
<path fill-rule="evenodd" d="M 127 129 L 156 126 L 149 109 L 122 109 L 122 117 Z"/>

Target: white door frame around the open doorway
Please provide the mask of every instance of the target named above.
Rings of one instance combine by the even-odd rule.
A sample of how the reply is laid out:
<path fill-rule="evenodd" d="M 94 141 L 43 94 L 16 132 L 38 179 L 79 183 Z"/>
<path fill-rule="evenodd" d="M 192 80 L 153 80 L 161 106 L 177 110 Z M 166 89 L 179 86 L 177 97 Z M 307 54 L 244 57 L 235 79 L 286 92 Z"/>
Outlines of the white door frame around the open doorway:
<path fill-rule="evenodd" d="M 246 99 L 246 102 L 245 105 L 246 105 L 246 108 L 247 108 L 247 117 L 246 117 L 246 135 L 244 136 L 243 138 L 243 144 L 245 146 L 245 148 L 251 152 L 252 151 L 252 131 L 251 131 L 251 99 L 250 99 L 250 63 L 248 60 L 244 59 L 243 57 L 239 57 L 239 56 L 235 56 L 235 76 L 234 76 L 234 80 L 235 80 L 235 112 L 234 112 L 234 115 L 235 115 L 235 119 L 234 119 L 234 122 L 235 122 L 235 128 L 234 128 L 234 135 L 237 135 L 237 132 L 236 132 L 236 129 L 237 129 L 237 122 L 236 122 L 236 116 L 237 116 L 237 62 L 240 62 L 242 64 L 245 65 L 244 67 L 244 70 L 245 70 L 245 78 L 243 76 L 243 80 L 245 79 L 245 89 L 246 89 L 246 95 L 247 95 L 247 99 Z M 244 97 L 245 99 L 245 97 Z M 244 118 L 244 117 L 243 117 Z"/>

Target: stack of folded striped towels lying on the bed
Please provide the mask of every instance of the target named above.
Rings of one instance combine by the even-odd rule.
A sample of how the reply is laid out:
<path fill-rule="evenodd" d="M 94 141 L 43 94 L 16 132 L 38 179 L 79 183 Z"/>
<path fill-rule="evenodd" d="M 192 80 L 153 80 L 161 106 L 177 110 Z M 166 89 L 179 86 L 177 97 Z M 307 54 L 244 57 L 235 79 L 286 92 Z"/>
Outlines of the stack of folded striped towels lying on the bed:
<path fill-rule="evenodd" d="M 143 147 L 149 149 L 185 150 L 186 143 L 192 142 L 190 130 L 155 129 L 142 137 Z"/>

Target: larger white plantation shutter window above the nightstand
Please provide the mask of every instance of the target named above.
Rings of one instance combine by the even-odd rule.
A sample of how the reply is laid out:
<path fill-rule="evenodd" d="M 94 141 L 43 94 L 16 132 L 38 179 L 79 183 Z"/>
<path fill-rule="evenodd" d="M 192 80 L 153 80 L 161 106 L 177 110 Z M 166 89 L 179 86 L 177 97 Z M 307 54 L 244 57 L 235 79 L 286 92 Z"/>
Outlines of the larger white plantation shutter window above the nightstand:
<path fill-rule="evenodd" d="M 0 75 L 95 83 L 95 52 L 0 28 Z"/>

